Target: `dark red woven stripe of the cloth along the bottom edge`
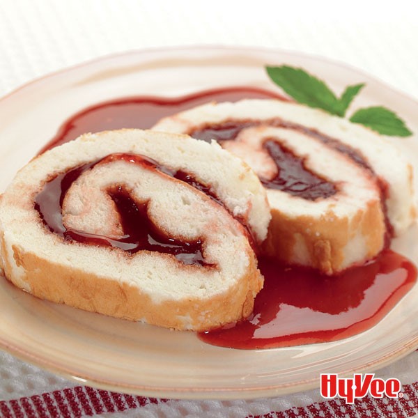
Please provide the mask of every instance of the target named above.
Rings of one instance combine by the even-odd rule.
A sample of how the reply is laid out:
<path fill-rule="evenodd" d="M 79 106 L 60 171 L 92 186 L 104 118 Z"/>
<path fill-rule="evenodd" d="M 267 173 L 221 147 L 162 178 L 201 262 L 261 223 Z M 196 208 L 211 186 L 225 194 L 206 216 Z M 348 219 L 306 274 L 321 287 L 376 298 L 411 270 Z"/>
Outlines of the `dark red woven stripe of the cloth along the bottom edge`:
<path fill-rule="evenodd" d="M 314 402 L 304 407 L 291 408 L 283 411 L 271 410 L 262 415 L 241 415 L 242 418 L 360 418 L 360 417 L 414 417 L 418 413 L 418 382 L 404 385 L 403 396 L 397 400 L 370 396 L 358 399 L 354 405 L 348 405 L 343 400 Z M 45 394 L 24 396 L 19 399 L 0 402 L 0 414 L 3 418 L 36 418 L 36 417 L 65 417 L 79 418 L 102 415 L 106 412 L 123 412 L 134 410 L 135 416 L 167 416 L 175 417 L 181 403 L 185 401 L 169 401 L 167 399 L 147 398 L 118 394 L 106 390 L 93 389 L 87 386 L 77 386 L 56 390 Z M 192 401 L 188 401 L 192 403 Z M 165 411 L 161 405 L 167 404 Z M 194 402 L 196 405 L 197 403 Z M 207 405 L 207 404 L 206 404 Z M 224 412 L 227 412 L 227 408 Z M 167 412 L 173 415 L 167 414 Z M 182 408 L 180 408 L 182 410 Z M 187 410 L 183 406 L 183 412 Z M 160 415 L 161 412 L 166 412 Z M 194 408 L 196 416 L 202 417 L 205 412 L 203 405 Z M 211 412 L 212 413 L 212 412 Z M 144 415 L 145 414 L 145 415 Z M 214 416 L 214 415 L 211 415 Z M 227 415 L 224 415 L 227 416 Z M 238 416 L 238 415 L 234 415 Z"/>

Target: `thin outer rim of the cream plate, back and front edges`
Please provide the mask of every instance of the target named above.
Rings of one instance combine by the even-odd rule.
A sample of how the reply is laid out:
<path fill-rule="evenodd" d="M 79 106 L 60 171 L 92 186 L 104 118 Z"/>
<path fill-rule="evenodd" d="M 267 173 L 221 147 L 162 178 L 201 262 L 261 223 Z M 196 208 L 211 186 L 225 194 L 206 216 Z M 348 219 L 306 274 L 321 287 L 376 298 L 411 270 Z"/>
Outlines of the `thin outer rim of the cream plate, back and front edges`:
<path fill-rule="evenodd" d="M 183 47 L 158 47 L 158 48 L 147 48 L 147 49 L 132 49 L 127 52 L 117 52 L 113 54 L 105 54 L 103 56 L 98 56 L 94 59 L 90 59 L 87 61 L 83 61 L 81 63 L 76 63 L 75 65 L 70 65 L 66 68 L 61 68 L 59 70 L 49 72 L 45 75 L 37 77 L 35 79 L 31 79 L 29 82 L 26 82 L 17 88 L 13 89 L 12 91 L 6 93 L 0 98 L 0 104 L 2 104 L 5 100 L 13 98 L 18 93 L 22 93 L 25 91 L 26 88 L 31 88 L 33 85 L 37 85 L 40 83 L 48 82 L 49 79 L 54 77 L 62 77 L 68 74 L 68 72 L 77 71 L 82 68 L 87 68 L 90 65 L 97 65 L 98 63 L 107 62 L 111 60 L 123 59 L 125 56 L 141 56 L 147 53 L 164 53 L 164 52 L 192 52 L 205 49 L 206 51 L 213 51 L 213 52 L 241 52 L 245 53 L 277 53 L 278 56 L 280 54 L 284 54 L 286 56 L 294 56 L 301 59 L 309 59 L 312 61 L 321 61 L 323 63 L 327 63 L 330 65 L 336 65 L 338 67 L 346 68 L 350 70 L 350 72 L 357 73 L 357 75 L 361 75 L 366 79 L 373 80 L 373 82 L 377 82 L 384 88 L 392 91 L 392 93 L 396 93 L 397 95 L 401 95 L 405 100 L 409 100 L 418 106 L 418 100 L 412 98 L 412 96 L 408 95 L 407 93 L 394 88 L 387 84 L 387 82 L 382 81 L 378 77 L 374 77 L 369 73 L 356 68 L 353 65 L 343 63 L 341 61 L 336 61 L 329 59 L 327 57 L 318 56 L 314 54 L 304 54 L 301 52 L 294 52 L 294 51 L 287 51 L 286 49 L 278 49 L 278 48 L 270 48 L 270 47 L 245 47 L 245 46 L 238 46 L 238 47 L 231 47 L 226 45 L 189 45 Z M 0 270 L 1 271 L 1 270 Z M 196 388 L 196 387 L 180 387 L 180 388 L 173 388 L 173 387 L 150 387 L 149 385 L 131 385 L 129 383 L 115 383 L 107 380 L 97 380 L 95 378 L 91 378 L 89 376 L 82 376 L 81 373 L 74 373 L 70 371 L 70 369 L 63 368 L 62 364 L 57 365 L 54 362 L 49 362 L 47 359 L 42 359 L 42 357 L 36 357 L 33 353 L 27 352 L 20 347 L 13 346 L 13 344 L 8 343 L 6 340 L 3 339 L 3 336 L 0 335 L 0 348 L 6 350 L 8 353 L 15 355 L 16 357 L 23 359 L 24 361 L 30 362 L 32 364 L 36 364 L 40 366 L 42 369 L 47 369 L 52 371 L 56 374 L 64 376 L 65 378 L 70 378 L 77 382 L 82 382 L 82 384 L 88 385 L 92 384 L 95 387 L 100 387 L 102 389 L 109 389 L 109 390 L 116 390 L 117 392 L 124 392 L 124 393 L 135 393 L 141 394 L 145 396 L 169 396 L 173 398 L 185 398 L 185 399 L 196 399 L 196 398 L 206 398 L 206 399 L 238 399 L 238 398 L 259 398 L 261 396 L 277 396 L 279 394 L 289 394 L 293 392 L 300 392 L 308 389 L 313 389 L 319 386 L 319 376 L 318 378 L 312 378 L 307 380 L 297 380 L 295 382 L 290 383 L 281 383 L 277 385 L 268 385 L 263 387 L 235 387 L 235 388 Z M 347 376 L 348 374 L 356 373 L 357 371 L 370 371 L 370 370 L 377 370 L 381 369 L 384 366 L 394 362 L 396 359 L 401 359 L 405 357 L 409 353 L 412 353 L 416 348 L 418 348 L 418 336 L 414 339 L 408 341 L 405 346 L 402 346 L 390 353 L 387 353 L 378 359 L 375 359 L 373 362 L 368 362 L 364 364 L 364 366 L 357 366 L 356 369 L 351 368 L 350 370 L 343 371 L 339 374 L 341 376 Z"/>

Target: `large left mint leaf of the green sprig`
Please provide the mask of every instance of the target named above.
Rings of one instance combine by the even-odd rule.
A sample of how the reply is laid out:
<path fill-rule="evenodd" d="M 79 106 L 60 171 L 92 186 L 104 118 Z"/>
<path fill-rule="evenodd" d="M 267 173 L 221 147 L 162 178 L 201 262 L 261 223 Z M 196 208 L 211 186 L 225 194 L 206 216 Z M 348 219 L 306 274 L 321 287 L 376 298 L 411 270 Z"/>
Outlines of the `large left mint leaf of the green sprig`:
<path fill-rule="evenodd" d="M 280 67 L 267 66 L 266 70 L 272 81 L 297 102 L 310 107 L 318 107 L 330 114 L 339 114 L 339 109 L 337 109 L 339 100 L 330 88 L 302 68 L 281 65 Z"/>

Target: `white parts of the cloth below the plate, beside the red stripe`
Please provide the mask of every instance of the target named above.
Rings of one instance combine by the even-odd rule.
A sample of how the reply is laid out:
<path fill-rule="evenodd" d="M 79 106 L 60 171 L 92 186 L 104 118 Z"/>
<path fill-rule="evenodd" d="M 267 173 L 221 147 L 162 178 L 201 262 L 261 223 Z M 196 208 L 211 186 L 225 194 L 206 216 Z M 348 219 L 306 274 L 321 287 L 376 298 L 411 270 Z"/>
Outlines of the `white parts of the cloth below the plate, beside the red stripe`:
<path fill-rule="evenodd" d="M 408 355 L 394 364 L 379 371 L 376 377 L 388 379 L 398 378 L 403 385 L 418 380 L 418 351 Z M 54 390 L 77 386 L 77 382 L 26 364 L 7 354 L 0 353 L 0 401 L 9 401 L 24 396 L 43 394 Z M 263 415 L 270 411 L 285 411 L 293 407 L 304 407 L 321 402 L 317 389 L 278 396 L 276 398 L 259 398 L 251 401 L 185 401 L 171 400 L 167 403 L 149 403 L 142 408 L 102 414 L 108 417 L 247 417 L 247 415 Z M 1 417 L 1 412 L 0 412 Z"/>

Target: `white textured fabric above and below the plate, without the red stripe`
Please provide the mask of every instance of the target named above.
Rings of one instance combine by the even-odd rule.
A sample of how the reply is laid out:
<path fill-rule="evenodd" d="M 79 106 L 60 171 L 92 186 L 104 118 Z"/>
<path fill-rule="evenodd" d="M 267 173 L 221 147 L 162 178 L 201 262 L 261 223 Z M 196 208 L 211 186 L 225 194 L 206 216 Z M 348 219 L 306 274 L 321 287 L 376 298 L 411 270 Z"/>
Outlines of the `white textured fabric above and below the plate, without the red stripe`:
<path fill-rule="evenodd" d="M 34 77 L 104 54 L 210 44 L 279 47 L 325 56 L 366 70 L 418 98 L 417 7 L 408 0 L 0 0 L 0 95 Z M 418 353 L 377 375 L 398 377 L 404 384 L 417 381 Z M 0 401 L 76 385 L 0 352 Z M 150 403 L 102 416 L 245 417 L 315 401 L 321 399 L 314 390 L 254 401 Z"/>

